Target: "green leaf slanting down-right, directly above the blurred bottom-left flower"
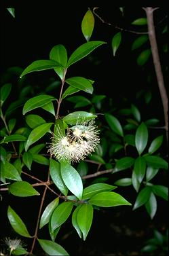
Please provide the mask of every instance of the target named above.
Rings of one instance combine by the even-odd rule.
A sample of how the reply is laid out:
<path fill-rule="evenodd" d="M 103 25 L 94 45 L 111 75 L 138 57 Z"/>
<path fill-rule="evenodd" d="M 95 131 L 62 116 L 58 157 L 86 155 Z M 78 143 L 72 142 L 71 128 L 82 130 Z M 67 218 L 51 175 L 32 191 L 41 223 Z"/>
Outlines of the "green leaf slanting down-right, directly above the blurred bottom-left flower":
<path fill-rule="evenodd" d="M 20 236 L 31 238 L 28 230 L 26 229 L 26 225 L 24 225 L 22 219 L 20 219 L 11 206 L 8 206 L 7 208 L 7 218 L 9 219 L 10 224 L 16 233 L 20 234 Z"/>

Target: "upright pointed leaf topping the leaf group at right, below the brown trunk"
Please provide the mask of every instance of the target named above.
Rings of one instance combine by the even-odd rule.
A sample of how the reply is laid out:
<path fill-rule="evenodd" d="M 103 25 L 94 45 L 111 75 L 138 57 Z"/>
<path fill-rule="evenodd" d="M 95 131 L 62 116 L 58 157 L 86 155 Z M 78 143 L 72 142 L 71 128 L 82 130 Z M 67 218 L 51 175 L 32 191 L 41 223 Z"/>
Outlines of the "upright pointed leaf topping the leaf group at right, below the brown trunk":
<path fill-rule="evenodd" d="M 147 126 L 145 126 L 145 123 L 142 122 L 136 129 L 136 136 L 135 136 L 135 145 L 139 155 L 143 153 L 145 147 L 147 146 L 147 141 L 148 141 Z"/>

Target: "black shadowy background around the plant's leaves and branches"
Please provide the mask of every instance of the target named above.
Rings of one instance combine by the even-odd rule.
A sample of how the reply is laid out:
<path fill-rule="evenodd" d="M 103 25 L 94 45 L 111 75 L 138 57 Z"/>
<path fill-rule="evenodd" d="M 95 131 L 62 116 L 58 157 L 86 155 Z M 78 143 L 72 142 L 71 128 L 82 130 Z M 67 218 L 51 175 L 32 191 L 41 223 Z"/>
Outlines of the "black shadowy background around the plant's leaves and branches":
<path fill-rule="evenodd" d="M 48 59 L 52 47 L 59 43 L 67 48 L 68 56 L 79 45 L 86 43 L 86 39 L 81 32 L 81 21 L 88 7 L 92 10 L 97 4 L 91 5 L 90 1 L 78 1 L 77 3 L 74 1 L 71 1 L 71 3 L 69 1 L 62 1 L 62 3 L 56 1 L 56 4 L 54 4 L 54 1 L 34 2 L 28 4 L 28 2 L 20 1 L 15 6 L 16 18 L 13 18 L 7 12 L 5 5 L 1 5 L 2 73 L 9 67 L 18 66 L 25 69 L 34 60 Z M 126 7 L 125 16 L 122 18 L 119 7 L 112 7 L 111 4 L 100 7 L 98 14 L 107 22 L 121 26 L 124 29 L 135 29 L 131 22 L 136 18 L 145 17 L 145 11 L 141 7 Z M 159 22 L 167 14 L 168 5 L 166 3 L 165 6 L 155 12 L 155 21 Z M 160 29 L 161 25 L 157 28 L 157 35 Z M 153 103 L 150 109 L 153 112 L 150 109 L 149 112 L 151 112 L 151 115 L 155 115 L 156 118 L 159 117 L 160 120 L 163 120 L 162 104 L 152 60 L 144 70 L 136 65 L 138 52 L 131 52 L 131 44 L 136 39 L 136 35 L 125 32 L 122 33 L 122 42 L 117 56 L 113 57 L 111 39 L 117 32 L 119 31 L 115 27 L 103 24 L 95 17 L 94 32 L 90 40 L 106 41 L 107 44 L 97 48 L 92 54 L 92 59 L 85 58 L 70 67 L 69 76 L 79 75 L 93 79 L 96 81 L 96 87 L 94 88 L 96 94 L 106 94 L 107 97 L 115 97 L 116 100 L 118 100 L 119 95 L 123 94 L 131 98 L 134 103 L 137 101 L 135 98 L 136 92 L 150 86 L 153 91 Z M 159 36 L 159 45 L 162 42 L 161 40 L 163 39 Z M 161 57 L 165 66 L 168 58 Z M 149 72 L 153 74 L 151 84 L 147 83 Z M 48 75 L 53 75 L 52 71 L 33 73 L 38 82 Z M 145 115 L 148 116 L 149 113 L 146 114 L 146 111 L 147 109 L 145 109 Z M 119 193 L 127 200 L 134 202 L 135 192 L 131 194 L 131 191 L 125 188 L 125 193 L 124 189 L 119 190 Z M 5 202 L 8 203 L 10 200 L 12 205 L 14 198 L 13 196 L 9 198 L 7 196 Z M 3 204 L 5 202 L 3 201 Z M 39 198 L 33 198 L 33 200 L 32 198 L 22 200 L 18 198 L 14 207 L 16 212 L 17 210 L 20 211 L 20 208 L 23 209 L 23 214 L 20 217 L 26 220 L 24 208 L 28 204 L 31 205 L 27 216 L 30 219 L 29 229 L 34 227 L 31 223 L 32 217 L 37 218 L 36 206 L 39 204 Z M 158 201 L 157 215 L 155 215 L 153 221 L 149 219 L 143 207 L 136 210 L 134 214 L 128 206 L 103 209 L 94 213 L 94 222 L 86 242 L 80 240 L 75 230 L 72 233 L 72 225 L 69 221 L 60 230 L 60 236 L 58 235 L 56 242 L 62 244 L 70 255 L 73 255 L 73 253 L 77 255 L 139 255 L 136 252 L 139 251 L 140 244 L 143 244 L 146 238 L 150 238 L 154 227 L 165 230 L 168 219 L 167 212 L 166 202 L 162 202 L 162 200 Z M 3 223 L 7 222 L 5 219 L 2 221 Z M 8 236 L 10 224 L 7 227 L 2 227 L 3 236 Z M 48 234 L 48 230 L 43 232 Z M 13 234 L 12 231 L 10 231 L 10 234 Z M 130 254 L 131 251 L 133 251 L 133 254 Z M 112 252 L 115 254 L 112 254 Z"/>

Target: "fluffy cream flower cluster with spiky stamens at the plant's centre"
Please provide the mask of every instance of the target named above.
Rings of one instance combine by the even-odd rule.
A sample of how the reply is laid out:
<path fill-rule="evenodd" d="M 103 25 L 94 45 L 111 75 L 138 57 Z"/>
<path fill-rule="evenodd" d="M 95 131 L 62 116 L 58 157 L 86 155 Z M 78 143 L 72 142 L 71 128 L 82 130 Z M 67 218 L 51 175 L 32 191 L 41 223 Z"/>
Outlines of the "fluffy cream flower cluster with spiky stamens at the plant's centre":
<path fill-rule="evenodd" d="M 56 127 L 48 152 L 60 161 L 79 162 L 92 153 L 98 143 L 97 126 L 94 120 L 90 120 L 68 128 L 67 134 Z"/>

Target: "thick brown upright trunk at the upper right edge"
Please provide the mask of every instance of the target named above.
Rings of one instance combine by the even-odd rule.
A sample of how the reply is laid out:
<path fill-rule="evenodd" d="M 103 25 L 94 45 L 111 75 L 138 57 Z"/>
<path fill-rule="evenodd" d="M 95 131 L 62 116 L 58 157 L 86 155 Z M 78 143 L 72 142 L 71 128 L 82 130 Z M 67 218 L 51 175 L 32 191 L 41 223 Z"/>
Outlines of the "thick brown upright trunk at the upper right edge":
<path fill-rule="evenodd" d="M 153 7 L 145 7 L 143 8 L 147 15 L 147 24 L 148 24 L 148 31 L 149 31 L 149 41 L 151 45 L 151 52 L 153 56 L 153 64 L 155 68 L 155 73 L 157 77 L 157 84 L 159 87 L 159 92 L 162 98 L 162 105 L 164 109 L 164 122 L 165 122 L 165 129 L 166 129 L 166 140 L 168 142 L 168 96 L 166 92 L 166 88 L 164 86 L 164 77 L 162 73 L 162 66 L 159 60 L 159 53 L 157 48 L 157 40 L 155 37 L 155 26 L 153 22 L 153 12 L 157 10 L 157 8 Z"/>

